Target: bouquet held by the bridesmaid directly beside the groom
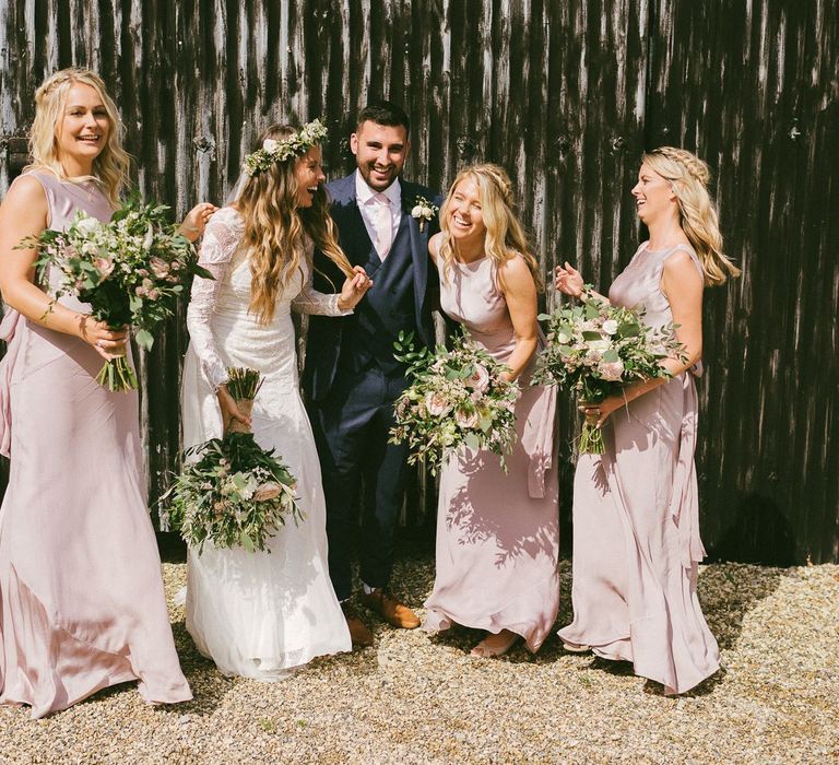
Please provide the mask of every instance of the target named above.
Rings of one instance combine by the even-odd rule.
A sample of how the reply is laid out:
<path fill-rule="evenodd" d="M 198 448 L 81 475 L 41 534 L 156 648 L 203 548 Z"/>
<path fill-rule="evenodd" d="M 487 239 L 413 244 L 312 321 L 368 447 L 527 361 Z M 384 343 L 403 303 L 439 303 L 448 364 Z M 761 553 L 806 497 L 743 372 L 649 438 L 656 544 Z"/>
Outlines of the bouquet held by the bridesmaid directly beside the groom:
<path fill-rule="evenodd" d="M 506 469 L 504 455 L 516 442 L 513 405 L 519 397 L 518 384 L 501 377 L 507 367 L 465 330 L 450 351 L 416 352 L 413 336 L 402 333 L 394 346 L 393 355 L 409 365 L 414 381 L 395 402 L 390 443 L 407 440 L 409 463 L 423 460 L 436 474 L 446 452 L 466 446 L 492 450 Z"/>

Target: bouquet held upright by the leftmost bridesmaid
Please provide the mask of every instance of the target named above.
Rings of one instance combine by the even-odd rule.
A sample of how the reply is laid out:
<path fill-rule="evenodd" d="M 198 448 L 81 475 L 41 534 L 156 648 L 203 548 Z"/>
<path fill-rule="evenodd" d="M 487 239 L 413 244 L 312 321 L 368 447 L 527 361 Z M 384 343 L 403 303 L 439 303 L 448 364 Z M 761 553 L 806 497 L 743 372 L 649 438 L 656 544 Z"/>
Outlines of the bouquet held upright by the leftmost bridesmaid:
<path fill-rule="evenodd" d="M 50 267 L 63 275 L 57 297 L 73 295 L 90 303 L 93 318 L 110 327 L 132 326 L 146 351 L 152 330 L 175 311 L 177 296 L 188 279 L 200 274 L 192 244 L 166 220 L 165 205 L 130 199 L 109 223 L 79 211 L 66 231 L 46 229 L 25 238 L 19 247 L 35 247 L 35 268 L 42 283 Z M 96 378 L 108 390 L 131 390 L 137 377 L 125 356 L 110 360 Z"/>

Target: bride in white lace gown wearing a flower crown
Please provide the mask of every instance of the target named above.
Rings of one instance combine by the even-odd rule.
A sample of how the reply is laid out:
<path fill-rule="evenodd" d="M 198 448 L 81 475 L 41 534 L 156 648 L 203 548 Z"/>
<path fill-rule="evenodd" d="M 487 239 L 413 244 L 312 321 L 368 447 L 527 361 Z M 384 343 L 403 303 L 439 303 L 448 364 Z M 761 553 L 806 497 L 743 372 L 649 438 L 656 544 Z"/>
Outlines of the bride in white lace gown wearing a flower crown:
<path fill-rule="evenodd" d="M 263 681 L 316 656 L 352 649 L 327 567 L 326 510 L 311 427 L 297 385 L 289 310 L 343 316 L 371 285 L 338 245 L 329 217 L 317 120 L 272 126 L 245 161 L 235 201 L 210 220 L 187 313 L 185 447 L 220 437 L 231 420 L 251 425 L 297 478 L 305 520 L 288 522 L 269 552 L 206 544 L 188 553 L 187 629 L 225 674 Z M 346 275 L 338 294 L 311 289 L 314 247 Z M 264 382 L 251 417 L 225 387 L 228 366 Z"/>

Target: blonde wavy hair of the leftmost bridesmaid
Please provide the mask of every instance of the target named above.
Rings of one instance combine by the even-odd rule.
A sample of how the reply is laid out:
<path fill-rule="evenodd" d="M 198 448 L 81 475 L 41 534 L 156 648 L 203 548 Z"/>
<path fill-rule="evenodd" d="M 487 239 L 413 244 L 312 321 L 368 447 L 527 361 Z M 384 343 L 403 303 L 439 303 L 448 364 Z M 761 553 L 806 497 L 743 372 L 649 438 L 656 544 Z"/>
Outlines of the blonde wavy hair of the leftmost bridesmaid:
<path fill-rule="evenodd" d="M 117 106 L 105 90 L 102 79 L 88 69 L 71 67 L 48 76 L 35 91 L 35 119 L 29 131 L 32 164 L 27 170 L 48 170 L 61 180 L 70 180 L 59 156 L 58 137 L 67 108 L 67 96 L 75 84 L 90 85 L 96 91 L 108 115 L 108 137 L 105 146 L 93 161 L 93 175 L 73 181 L 99 181 L 113 207 L 119 204 L 123 189 L 129 186 L 131 157 L 122 149 L 125 129 Z"/>

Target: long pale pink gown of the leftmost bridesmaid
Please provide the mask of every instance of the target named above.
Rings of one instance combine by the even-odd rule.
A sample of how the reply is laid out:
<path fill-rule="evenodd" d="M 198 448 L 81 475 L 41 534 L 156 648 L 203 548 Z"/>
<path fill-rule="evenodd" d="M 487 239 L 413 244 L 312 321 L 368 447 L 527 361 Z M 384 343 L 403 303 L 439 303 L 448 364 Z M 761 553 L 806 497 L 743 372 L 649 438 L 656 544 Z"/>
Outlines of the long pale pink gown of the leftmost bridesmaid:
<path fill-rule="evenodd" d="M 110 219 L 93 183 L 28 177 L 44 188 L 51 228 L 76 210 Z M 109 392 L 91 345 L 9 308 L 2 337 L 0 451 L 11 467 L 0 509 L 0 702 L 38 718 L 129 680 L 149 702 L 191 698 L 146 507 L 137 391 Z"/>

